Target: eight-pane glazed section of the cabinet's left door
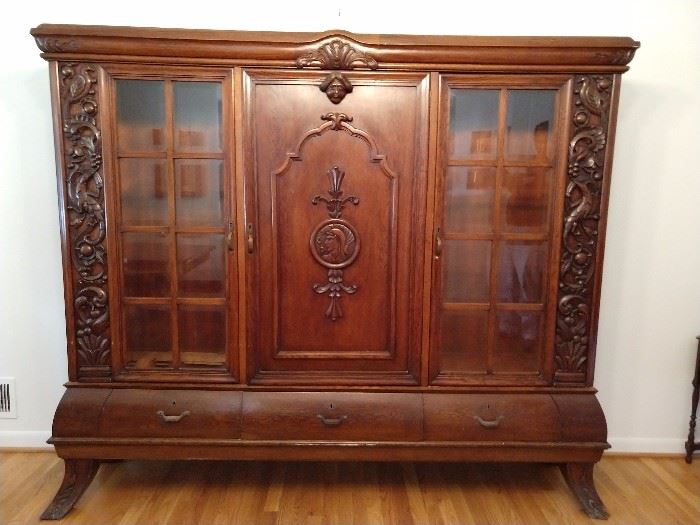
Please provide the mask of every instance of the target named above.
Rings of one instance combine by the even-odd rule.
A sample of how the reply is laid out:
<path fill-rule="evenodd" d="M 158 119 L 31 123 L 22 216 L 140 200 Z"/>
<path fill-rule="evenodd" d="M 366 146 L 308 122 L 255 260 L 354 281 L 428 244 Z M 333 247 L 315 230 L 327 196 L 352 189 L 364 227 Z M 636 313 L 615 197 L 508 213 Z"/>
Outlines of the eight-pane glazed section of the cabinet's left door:
<path fill-rule="evenodd" d="M 125 371 L 233 371 L 228 82 L 115 81 Z"/>

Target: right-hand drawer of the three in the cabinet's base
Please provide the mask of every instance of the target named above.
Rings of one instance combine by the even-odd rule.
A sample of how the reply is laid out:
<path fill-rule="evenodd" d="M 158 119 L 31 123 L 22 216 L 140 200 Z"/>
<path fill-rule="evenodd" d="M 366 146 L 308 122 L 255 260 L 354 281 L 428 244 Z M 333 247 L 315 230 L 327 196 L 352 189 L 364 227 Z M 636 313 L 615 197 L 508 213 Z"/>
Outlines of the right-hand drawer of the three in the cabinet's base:
<path fill-rule="evenodd" d="M 427 441 L 559 441 L 559 412 L 546 394 L 426 394 Z"/>

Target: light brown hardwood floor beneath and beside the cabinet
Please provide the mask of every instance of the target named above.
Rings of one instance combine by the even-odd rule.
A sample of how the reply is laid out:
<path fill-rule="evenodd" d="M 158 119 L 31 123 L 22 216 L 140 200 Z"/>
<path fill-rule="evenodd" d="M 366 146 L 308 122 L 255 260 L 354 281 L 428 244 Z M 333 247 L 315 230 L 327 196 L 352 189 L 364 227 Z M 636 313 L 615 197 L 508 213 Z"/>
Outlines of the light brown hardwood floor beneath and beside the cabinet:
<path fill-rule="evenodd" d="M 0 523 L 36 523 L 63 463 L 0 452 Z M 606 457 L 595 479 L 609 524 L 700 524 L 700 458 Z M 50 522 L 44 522 L 50 523 Z M 553 465 L 125 461 L 100 467 L 56 523 L 584 524 Z"/>

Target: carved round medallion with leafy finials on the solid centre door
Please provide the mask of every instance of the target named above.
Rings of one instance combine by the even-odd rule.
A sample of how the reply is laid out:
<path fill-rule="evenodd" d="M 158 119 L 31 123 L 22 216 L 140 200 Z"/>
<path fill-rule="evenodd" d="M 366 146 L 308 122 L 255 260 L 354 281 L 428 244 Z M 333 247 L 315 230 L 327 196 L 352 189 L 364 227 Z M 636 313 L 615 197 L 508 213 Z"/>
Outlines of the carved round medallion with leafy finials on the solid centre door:
<path fill-rule="evenodd" d="M 337 321 L 343 317 L 340 308 L 340 298 L 343 293 L 354 294 L 357 291 L 356 284 L 345 284 L 343 282 L 343 270 L 350 266 L 360 253 L 360 238 L 355 227 L 342 219 L 343 208 L 347 203 L 357 206 L 360 199 L 351 195 L 343 197 L 342 184 L 345 172 L 338 166 L 333 166 L 327 173 L 330 188 L 328 194 L 316 195 L 311 204 L 316 206 L 320 202 L 326 204 L 330 219 L 321 222 L 311 232 L 309 247 L 311 255 L 316 261 L 328 268 L 328 282 L 325 284 L 314 284 L 313 291 L 317 294 L 328 294 L 330 304 L 326 309 L 326 317 L 331 321 Z"/>

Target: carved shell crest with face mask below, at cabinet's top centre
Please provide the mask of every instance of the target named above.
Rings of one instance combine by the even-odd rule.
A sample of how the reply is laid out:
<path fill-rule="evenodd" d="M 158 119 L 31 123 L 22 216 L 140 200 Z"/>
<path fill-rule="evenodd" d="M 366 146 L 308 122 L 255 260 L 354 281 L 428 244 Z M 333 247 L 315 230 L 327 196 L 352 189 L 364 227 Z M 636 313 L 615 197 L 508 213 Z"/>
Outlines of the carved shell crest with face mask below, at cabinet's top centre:
<path fill-rule="evenodd" d="M 377 69 L 379 64 L 367 53 L 358 51 L 348 42 L 336 38 L 297 58 L 297 67 L 335 70 L 358 67 Z M 352 93 L 352 88 L 350 80 L 343 73 L 338 72 L 329 73 L 319 86 L 333 104 L 340 104 L 348 93 Z"/>

